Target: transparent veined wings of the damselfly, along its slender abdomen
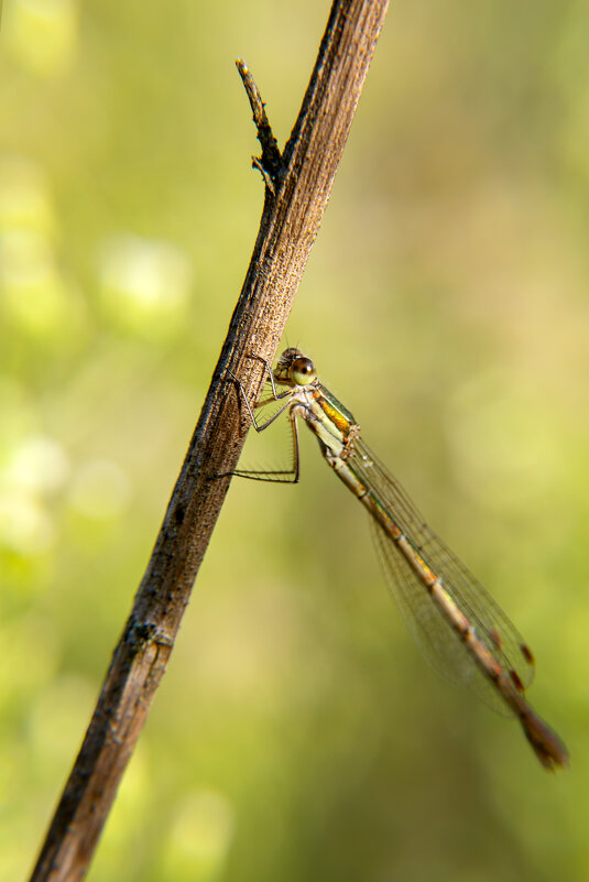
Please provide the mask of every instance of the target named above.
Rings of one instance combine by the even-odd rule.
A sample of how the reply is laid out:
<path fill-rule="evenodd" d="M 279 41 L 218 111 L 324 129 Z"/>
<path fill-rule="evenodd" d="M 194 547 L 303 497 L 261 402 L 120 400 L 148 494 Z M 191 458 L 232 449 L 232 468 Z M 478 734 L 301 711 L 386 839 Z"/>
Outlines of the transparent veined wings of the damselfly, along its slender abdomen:
<path fill-rule="evenodd" d="M 374 493 L 419 557 L 443 582 L 479 640 L 522 690 L 534 675 L 534 660 L 524 639 L 475 576 L 425 523 L 402 486 L 359 439 L 348 459 L 360 480 Z M 391 591 L 434 667 L 445 677 L 468 685 L 502 714 L 509 709 L 434 602 L 395 542 L 374 521 L 374 542 Z"/>

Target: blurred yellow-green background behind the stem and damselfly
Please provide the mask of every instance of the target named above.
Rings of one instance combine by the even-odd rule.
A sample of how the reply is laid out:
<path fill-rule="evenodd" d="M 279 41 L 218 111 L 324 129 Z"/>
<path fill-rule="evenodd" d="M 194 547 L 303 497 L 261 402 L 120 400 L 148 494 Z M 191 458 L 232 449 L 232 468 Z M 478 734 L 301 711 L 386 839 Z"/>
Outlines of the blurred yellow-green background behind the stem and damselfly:
<path fill-rule="evenodd" d="M 233 61 L 284 143 L 328 9 L 4 4 L 1 879 L 35 859 L 250 258 Z M 533 646 L 570 771 L 432 672 L 305 437 L 298 487 L 233 481 L 91 882 L 589 878 L 588 28 L 583 2 L 393 3 L 287 326 Z M 275 436 L 243 461 L 284 462 Z"/>

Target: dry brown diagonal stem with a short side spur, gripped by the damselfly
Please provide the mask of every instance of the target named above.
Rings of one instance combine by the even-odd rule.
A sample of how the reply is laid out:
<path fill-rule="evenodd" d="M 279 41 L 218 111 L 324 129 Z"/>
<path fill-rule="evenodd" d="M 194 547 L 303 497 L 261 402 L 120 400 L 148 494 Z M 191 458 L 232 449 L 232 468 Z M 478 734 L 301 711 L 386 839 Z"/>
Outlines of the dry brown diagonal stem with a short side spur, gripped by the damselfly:
<path fill-rule="evenodd" d="M 32 882 L 77 882 L 86 874 L 165 671 L 229 486 L 228 477 L 218 476 L 228 476 L 236 468 L 246 439 L 249 421 L 227 382 L 228 371 L 239 375 L 246 394 L 255 399 L 261 361 L 247 356 L 254 352 L 269 361 L 274 358 L 386 7 L 388 0 L 334 0 L 282 157 L 261 99 L 259 104 L 255 99 L 260 162 L 274 192 L 266 189 L 250 266 L 198 424 Z M 251 76 L 246 80 L 251 83 Z M 255 88 L 252 94 L 259 97 Z"/>

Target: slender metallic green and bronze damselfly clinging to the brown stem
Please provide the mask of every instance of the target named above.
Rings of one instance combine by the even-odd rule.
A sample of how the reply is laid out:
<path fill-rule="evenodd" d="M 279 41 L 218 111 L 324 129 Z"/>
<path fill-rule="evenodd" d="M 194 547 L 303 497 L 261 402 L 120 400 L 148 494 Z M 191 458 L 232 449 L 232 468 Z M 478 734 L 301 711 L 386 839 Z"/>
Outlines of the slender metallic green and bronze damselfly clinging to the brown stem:
<path fill-rule="evenodd" d="M 303 420 L 317 438 L 327 464 L 368 510 L 385 579 L 410 631 L 434 666 L 448 678 L 471 686 L 500 712 L 515 717 L 545 769 L 568 765 L 567 748 L 525 697 L 534 675 L 534 656 L 515 625 L 425 523 L 399 481 L 370 451 L 359 424 L 319 381 L 312 359 L 291 347 L 273 371 L 268 362 L 264 364 L 272 395 L 253 406 L 239 380 L 231 375 L 257 432 L 266 429 L 282 414 L 287 415 L 293 433 L 292 468 L 238 469 L 232 473 L 297 483 L 298 421 Z M 279 409 L 260 423 L 254 411 L 272 402 L 279 402 Z"/>

